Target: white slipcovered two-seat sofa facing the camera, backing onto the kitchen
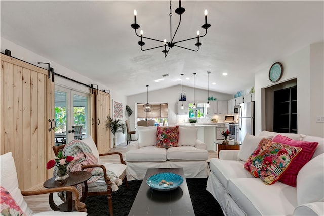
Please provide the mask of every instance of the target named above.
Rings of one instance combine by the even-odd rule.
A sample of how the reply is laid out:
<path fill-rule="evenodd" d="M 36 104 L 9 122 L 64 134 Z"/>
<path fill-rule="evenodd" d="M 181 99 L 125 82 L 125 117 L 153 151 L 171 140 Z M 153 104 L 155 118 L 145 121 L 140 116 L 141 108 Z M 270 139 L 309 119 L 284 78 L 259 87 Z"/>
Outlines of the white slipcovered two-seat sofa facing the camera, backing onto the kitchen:
<path fill-rule="evenodd" d="M 140 127 L 139 127 L 140 128 Z M 206 144 L 197 139 L 198 128 L 178 128 L 178 146 L 159 148 L 157 127 L 137 128 L 138 140 L 127 146 L 127 179 L 143 179 L 148 168 L 180 168 L 185 177 L 209 175 Z M 166 127 L 165 127 L 166 128 Z"/>

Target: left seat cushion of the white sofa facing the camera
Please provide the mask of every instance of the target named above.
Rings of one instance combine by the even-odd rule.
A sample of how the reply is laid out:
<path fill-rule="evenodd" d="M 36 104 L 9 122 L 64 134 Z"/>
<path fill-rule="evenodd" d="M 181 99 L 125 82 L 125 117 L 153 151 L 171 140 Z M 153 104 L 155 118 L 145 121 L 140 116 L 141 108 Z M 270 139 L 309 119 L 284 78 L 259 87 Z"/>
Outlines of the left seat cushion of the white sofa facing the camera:
<path fill-rule="evenodd" d="M 167 160 L 167 149 L 145 146 L 127 151 L 125 158 L 129 162 L 164 162 Z"/>

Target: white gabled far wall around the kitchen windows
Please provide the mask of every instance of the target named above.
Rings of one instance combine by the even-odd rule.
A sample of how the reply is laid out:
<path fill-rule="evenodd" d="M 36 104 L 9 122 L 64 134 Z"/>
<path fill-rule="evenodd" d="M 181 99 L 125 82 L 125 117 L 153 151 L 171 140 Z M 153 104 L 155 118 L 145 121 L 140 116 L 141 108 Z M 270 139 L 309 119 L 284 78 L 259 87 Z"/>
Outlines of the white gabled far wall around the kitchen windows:
<path fill-rule="evenodd" d="M 143 87 L 144 89 L 145 87 Z M 186 93 L 186 100 L 193 101 L 193 88 L 192 87 L 183 87 L 183 93 Z M 149 91 L 148 87 L 148 102 L 149 103 L 169 103 L 169 115 L 168 123 L 173 125 L 176 123 L 176 102 L 179 101 L 179 94 L 181 94 L 181 85 L 175 85 L 174 87 L 160 89 L 156 91 Z M 209 91 L 209 96 L 217 98 L 218 101 L 228 101 L 233 98 L 231 94 L 224 94 Z M 208 91 L 203 89 L 195 88 L 195 102 L 206 103 L 208 98 Z M 136 95 L 131 95 L 127 97 L 127 105 L 133 110 L 133 114 L 130 117 L 131 128 L 135 128 L 135 103 L 146 103 L 147 94 L 141 93 Z"/>

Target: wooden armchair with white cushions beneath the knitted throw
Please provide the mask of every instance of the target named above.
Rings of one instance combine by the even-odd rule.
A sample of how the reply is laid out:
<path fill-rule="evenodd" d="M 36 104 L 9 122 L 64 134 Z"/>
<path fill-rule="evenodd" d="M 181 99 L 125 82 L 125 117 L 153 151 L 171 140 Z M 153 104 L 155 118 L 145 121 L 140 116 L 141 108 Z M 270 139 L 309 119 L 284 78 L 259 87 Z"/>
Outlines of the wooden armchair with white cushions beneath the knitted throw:
<path fill-rule="evenodd" d="M 82 140 L 82 142 L 86 143 L 92 150 L 92 153 L 98 158 L 98 164 L 82 166 L 81 167 L 82 170 L 85 170 L 87 168 L 93 168 L 93 167 L 101 168 L 104 173 L 105 183 L 99 179 L 96 182 L 94 182 L 95 184 L 94 183 L 88 184 L 88 193 L 85 194 L 81 198 L 81 201 L 84 201 L 87 196 L 107 195 L 109 213 L 111 216 L 113 216 L 111 182 L 110 182 L 110 178 L 107 176 L 106 173 L 107 173 L 107 170 L 111 170 L 111 171 L 115 172 L 115 174 L 117 176 L 119 176 L 119 179 L 123 180 L 126 188 L 128 188 L 127 177 L 126 177 L 126 162 L 123 160 L 123 155 L 121 155 L 121 153 L 119 153 L 119 152 L 110 152 L 110 153 L 99 154 L 96 144 L 94 143 L 93 139 L 90 136 L 84 138 Z M 62 151 L 64 146 L 65 145 L 53 146 L 52 148 L 53 148 L 55 155 L 57 155 L 59 151 Z M 119 155 L 120 164 L 112 164 L 112 163 L 100 164 L 99 156 L 108 156 L 108 155 Z"/>

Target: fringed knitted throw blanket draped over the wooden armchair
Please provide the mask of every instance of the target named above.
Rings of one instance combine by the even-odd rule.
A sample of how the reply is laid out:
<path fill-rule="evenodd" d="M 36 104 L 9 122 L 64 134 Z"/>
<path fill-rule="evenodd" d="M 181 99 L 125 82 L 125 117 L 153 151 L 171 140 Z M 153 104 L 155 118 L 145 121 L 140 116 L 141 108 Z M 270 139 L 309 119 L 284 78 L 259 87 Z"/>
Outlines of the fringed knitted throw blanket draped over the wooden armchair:
<path fill-rule="evenodd" d="M 66 144 L 62 151 L 63 155 L 65 156 L 72 156 L 74 157 L 74 162 L 71 162 L 67 165 L 67 170 L 69 172 L 74 171 L 82 171 L 81 167 L 83 165 L 95 165 L 98 164 L 98 159 L 96 156 L 92 153 L 90 147 L 80 141 L 80 140 L 72 140 L 68 144 Z M 53 175 L 57 174 L 57 166 L 54 166 Z M 101 168 L 87 168 L 84 171 L 91 172 L 92 176 L 87 181 L 88 185 L 90 183 L 93 183 L 97 181 L 98 179 L 103 178 L 103 170 Z M 119 186 L 121 184 L 121 180 L 118 178 L 118 176 L 112 172 L 107 170 L 107 175 L 110 178 L 110 181 L 112 182 L 112 191 L 118 190 L 117 185 Z M 120 183 L 120 184 L 119 184 Z M 117 185 L 116 185 L 117 184 Z M 81 184 L 78 184 L 76 186 L 78 192 L 79 192 L 79 198 L 82 197 L 82 186 Z M 61 199 L 65 200 L 65 193 L 58 192 L 58 195 Z M 74 198 L 73 198 L 74 199 Z"/>

